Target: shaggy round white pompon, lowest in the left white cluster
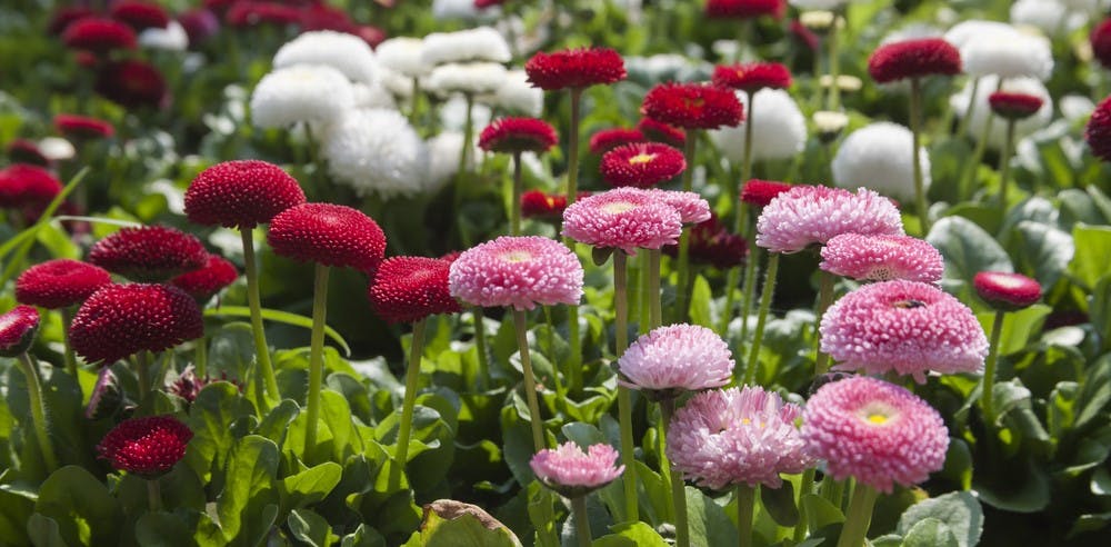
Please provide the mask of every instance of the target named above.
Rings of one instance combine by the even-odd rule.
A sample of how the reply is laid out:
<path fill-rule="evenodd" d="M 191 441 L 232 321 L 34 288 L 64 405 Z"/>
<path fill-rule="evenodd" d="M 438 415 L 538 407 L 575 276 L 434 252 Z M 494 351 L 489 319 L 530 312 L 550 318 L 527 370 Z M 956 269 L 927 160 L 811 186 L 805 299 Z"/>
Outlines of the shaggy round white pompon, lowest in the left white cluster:
<path fill-rule="evenodd" d="M 412 196 L 428 183 L 428 149 L 397 110 L 352 110 L 324 133 L 321 153 L 359 196 Z"/>

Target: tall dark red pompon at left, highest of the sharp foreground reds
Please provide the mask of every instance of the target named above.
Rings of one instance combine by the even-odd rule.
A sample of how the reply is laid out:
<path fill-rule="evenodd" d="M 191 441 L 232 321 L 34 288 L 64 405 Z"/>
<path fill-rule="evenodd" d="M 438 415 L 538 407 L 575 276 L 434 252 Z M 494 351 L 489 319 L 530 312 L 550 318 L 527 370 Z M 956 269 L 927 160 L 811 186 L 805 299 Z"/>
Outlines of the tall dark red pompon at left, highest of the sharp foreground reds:
<path fill-rule="evenodd" d="M 290 207 L 304 202 L 297 179 L 260 160 L 217 163 L 197 176 L 186 190 L 190 222 L 251 229 Z"/>

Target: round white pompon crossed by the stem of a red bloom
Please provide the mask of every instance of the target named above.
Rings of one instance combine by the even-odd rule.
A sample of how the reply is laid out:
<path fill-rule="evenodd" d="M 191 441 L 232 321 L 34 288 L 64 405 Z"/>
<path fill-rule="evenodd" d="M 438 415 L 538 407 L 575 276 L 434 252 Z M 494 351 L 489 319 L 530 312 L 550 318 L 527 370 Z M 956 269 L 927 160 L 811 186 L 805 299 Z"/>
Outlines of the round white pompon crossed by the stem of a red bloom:
<path fill-rule="evenodd" d="M 900 201 L 914 199 L 914 165 L 910 129 L 880 121 L 845 137 L 833 158 L 833 181 L 840 188 L 864 187 Z M 922 188 L 930 188 L 930 156 L 920 147 Z"/>

